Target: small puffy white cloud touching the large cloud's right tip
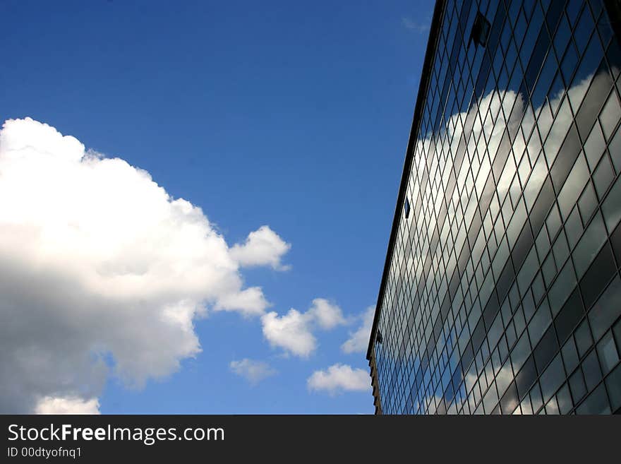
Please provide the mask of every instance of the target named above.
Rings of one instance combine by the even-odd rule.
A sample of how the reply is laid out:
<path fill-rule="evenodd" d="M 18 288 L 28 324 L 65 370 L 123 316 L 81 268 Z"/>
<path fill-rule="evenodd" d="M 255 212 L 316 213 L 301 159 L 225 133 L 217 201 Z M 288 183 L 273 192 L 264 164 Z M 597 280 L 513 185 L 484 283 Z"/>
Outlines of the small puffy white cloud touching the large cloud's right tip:
<path fill-rule="evenodd" d="M 262 225 L 248 234 L 246 242 L 235 244 L 231 248 L 231 256 L 240 266 L 272 266 L 276 270 L 288 270 L 280 260 L 291 249 L 291 244 L 285 242 L 268 225 Z"/>

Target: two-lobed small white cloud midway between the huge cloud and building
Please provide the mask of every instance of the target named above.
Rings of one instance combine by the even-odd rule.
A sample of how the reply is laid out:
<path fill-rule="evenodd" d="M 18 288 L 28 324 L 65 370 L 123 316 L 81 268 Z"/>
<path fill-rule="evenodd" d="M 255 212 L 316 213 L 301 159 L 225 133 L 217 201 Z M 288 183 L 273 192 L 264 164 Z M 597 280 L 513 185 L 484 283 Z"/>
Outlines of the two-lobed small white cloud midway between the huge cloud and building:
<path fill-rule="evenodd" d="M 287 314 L 279 316 L 272 311 L 265 314 L 261 322 L 263 335 L 270 345 L 281 347 L 292 355 L 308 357 L 317 348 L 317 339 L 313 335 L 315 329 L 329 330 L 346 321 L 336 304 L 315 298 L 305 313 L 291 308 Z"/>

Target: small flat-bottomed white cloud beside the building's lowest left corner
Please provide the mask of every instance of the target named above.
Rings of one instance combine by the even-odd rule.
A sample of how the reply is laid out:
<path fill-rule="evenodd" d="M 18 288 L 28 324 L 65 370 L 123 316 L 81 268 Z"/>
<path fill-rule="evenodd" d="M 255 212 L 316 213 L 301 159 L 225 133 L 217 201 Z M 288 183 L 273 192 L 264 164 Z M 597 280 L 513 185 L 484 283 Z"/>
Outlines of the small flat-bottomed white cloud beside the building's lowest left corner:
<path fill-rule="evenodd" d="M 333 364 L 325 371 L 315 371 L 306 381 L 311 391 L 326 391 L 330 395 L 343 391 L 370 391 L 368 371 L 352 369 L 347 364 Z"/>

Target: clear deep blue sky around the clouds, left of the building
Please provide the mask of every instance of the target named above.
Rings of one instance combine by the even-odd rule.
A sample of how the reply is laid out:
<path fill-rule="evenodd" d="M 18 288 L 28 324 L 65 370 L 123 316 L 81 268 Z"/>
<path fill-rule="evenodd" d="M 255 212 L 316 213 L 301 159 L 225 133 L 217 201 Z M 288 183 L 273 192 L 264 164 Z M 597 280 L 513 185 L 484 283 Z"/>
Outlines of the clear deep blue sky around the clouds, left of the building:
<path fill-rule="evenodd" d="M 194 319 L 198 355 L 140 388 L 106 376 L 100 411 L 373 412 L 369 391 L 307 381 L 337 363 L 368 369 L 341 345 L 378 295 L 433 2 L 3 9 L 2 121 L 31 117 L 144 169 L 229 246 L 269 225 L 291 244 L 290 269 L 244 268 L 244 285 L 279 316 L 325 298 L 346 319 L 299 357 L 270 345 L 260 318 L 208 309 Z M 275 374 L 252 385 L 229 365 L 245 358 Z"/>

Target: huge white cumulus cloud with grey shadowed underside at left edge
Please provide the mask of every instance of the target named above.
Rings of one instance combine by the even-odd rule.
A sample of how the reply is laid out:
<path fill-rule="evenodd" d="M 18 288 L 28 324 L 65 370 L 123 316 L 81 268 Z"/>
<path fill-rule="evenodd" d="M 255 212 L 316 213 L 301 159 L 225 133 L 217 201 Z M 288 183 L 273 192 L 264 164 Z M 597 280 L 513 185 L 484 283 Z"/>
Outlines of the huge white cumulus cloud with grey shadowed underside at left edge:
<path fill-rule="evenodd" d="M 200 352 L 207 309 L 268 306 L 200 208 L 47 124 L 4 123 L 0 198 L 0 412 L 140 387 Z"/>

